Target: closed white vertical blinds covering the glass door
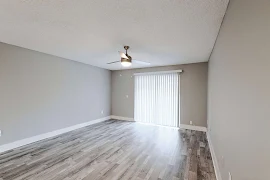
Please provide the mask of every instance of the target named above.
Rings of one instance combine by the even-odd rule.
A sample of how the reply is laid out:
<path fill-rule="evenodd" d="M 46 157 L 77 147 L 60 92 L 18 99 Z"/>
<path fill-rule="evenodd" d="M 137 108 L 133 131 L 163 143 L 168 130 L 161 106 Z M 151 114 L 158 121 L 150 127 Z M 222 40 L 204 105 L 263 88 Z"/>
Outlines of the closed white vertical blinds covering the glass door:
<path fill-rule="evenodd" d="M 135 121 L 179 127 L 179 74 L 135 76 Z"/>

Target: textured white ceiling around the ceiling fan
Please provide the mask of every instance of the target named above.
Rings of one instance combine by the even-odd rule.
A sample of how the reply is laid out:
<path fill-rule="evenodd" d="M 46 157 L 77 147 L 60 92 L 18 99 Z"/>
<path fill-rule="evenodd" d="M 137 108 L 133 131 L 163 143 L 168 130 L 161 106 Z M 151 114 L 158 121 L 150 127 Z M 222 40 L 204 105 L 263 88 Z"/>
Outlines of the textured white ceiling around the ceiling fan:
<path fill-rule="evenodd" d="M 151 66 L 205 62 L 228 1 L 1 0 L 0 41 L 111 70 L 123 45 Z"/>

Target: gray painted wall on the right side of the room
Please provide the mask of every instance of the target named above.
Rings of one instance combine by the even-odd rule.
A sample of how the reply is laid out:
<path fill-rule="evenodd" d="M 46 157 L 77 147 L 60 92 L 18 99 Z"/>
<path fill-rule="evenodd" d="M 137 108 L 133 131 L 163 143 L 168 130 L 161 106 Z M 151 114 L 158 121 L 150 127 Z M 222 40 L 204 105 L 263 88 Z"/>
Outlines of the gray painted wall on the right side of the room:
<path fill-rule="evenodd" d="M 269 50 L 270 1 L 231 0 L 209 62 L 208 124 L 223 180 L 228 171 L 270 179 Z"/>

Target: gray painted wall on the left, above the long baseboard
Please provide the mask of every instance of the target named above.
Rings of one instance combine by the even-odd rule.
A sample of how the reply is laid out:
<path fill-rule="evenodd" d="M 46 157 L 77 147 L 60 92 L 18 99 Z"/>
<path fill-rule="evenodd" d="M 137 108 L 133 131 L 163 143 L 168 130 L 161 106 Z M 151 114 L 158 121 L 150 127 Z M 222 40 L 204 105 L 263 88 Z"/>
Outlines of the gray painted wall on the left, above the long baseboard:
<path fill-rule="evenodd" d="M 108 70 L 0 43 L 0 145 L 109 116 L 110 81 Z"/>

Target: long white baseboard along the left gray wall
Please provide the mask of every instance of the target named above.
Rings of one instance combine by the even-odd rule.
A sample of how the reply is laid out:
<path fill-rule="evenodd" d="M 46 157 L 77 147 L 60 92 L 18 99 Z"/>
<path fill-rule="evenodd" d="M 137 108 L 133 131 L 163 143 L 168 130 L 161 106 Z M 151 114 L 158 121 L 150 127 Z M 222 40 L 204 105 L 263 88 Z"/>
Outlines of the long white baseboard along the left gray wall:
<path fill-rule="evenodd" d="M 57 136 L 57 135 L 60 135 L 60 134 L 63 134 L 63 133 L 69 132 L 69 131 L 73 131 L 75 129 L 79 129 L 79 128 L 82 128 L 82 127 L 85 127 L 85 126 L 89 126 L 89 125 L 92 125 L 92 124 L 103 122 L 103 121 L 109 120 L 110 118 L 111 118 L 110 116 L 107 116 L 107 117 L 104 117 L 104 118 L 100 118 L 100 119 L 92 120 L 92 121 L 89 121 L 89 122 L 85 122 L 85 123 L 77 124 L 77 125 L 74 125 L 74 126 L 70 126 L 70 127 L 67 127 L 67 128 L 58 129 L 58 130 L 48 132 L 48 133 L 45 133 L 45 134 L 40 134 L 40 135 L 33 136 L 33 137 L 30 137 L 30 138 L 22 139 L 22 140 L 15 141 L 15 142 L 12 142 L 12 143 L 9 143 L 9 144 L 4 144 L 4 145 L 0 146 L 0 153 L 11 150 L 11 149 L 14 149 L 14 148 L 18 148 L 18 147 L 21 147 L 21 146 L 24 146 L 24 145 L 27 145 L 27 144 L 30 144 L 30 143 L 33 143 L 33 142 L 37 142 L 37 141 L 40 141 L 40 140 L 43 140 L 43 139 L 47 139 L 47 138 L 50 138 L 50 137 L 53 137 L 53 136 Z"/>

